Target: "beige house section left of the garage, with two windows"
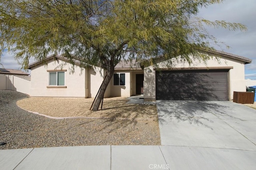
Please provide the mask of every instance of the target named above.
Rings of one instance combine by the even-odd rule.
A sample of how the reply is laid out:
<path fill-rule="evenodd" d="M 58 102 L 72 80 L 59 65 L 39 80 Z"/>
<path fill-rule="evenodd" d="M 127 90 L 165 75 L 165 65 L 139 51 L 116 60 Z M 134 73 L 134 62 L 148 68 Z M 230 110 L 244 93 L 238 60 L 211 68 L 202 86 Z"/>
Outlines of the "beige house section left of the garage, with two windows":
<path fill-rule="evenodd" d="M 72 64 L 62 55 L 52 55 L 42 62 L 29 65 L 31 69 L 30 96 L 93 98 L 103 81 L 106 71 L 98 66 L 80 68 L 80 63 Z M 140 66 L 121 62 L 115 67 L 115 74 L 106 89 L 105 97 L 132 96 L 143 93 L 143 74 Z M 137 79 L 136 79 L 137 78 Z M 136 86 L 140 91 L 136 91 Z M 142 91 L 141 91 L 142 90 Z"/>

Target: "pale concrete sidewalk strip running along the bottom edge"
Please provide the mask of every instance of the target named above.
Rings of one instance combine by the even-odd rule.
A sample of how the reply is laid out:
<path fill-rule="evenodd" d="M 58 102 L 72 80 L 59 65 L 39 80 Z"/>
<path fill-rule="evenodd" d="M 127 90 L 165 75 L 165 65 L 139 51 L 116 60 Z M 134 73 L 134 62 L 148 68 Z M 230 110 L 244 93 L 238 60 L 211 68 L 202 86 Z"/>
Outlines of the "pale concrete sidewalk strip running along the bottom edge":
<path fill-rule="evenodd" d="M 1 170 L 194 170 L 256 167 L 256 151 L 179 146 L 80 146 L 0 150 Z"/>

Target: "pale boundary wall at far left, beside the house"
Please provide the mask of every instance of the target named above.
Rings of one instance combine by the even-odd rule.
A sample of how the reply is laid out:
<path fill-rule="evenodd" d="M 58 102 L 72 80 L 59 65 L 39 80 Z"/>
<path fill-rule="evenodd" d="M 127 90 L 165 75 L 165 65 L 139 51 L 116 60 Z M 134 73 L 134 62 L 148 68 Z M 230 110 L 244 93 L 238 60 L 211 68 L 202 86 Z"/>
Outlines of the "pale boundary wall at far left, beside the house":
<path fill-rule="evenodd" d="M 30 94 L 30 81 L 14 75 L 0 74 L 0 90 L 15 90 Z"/>

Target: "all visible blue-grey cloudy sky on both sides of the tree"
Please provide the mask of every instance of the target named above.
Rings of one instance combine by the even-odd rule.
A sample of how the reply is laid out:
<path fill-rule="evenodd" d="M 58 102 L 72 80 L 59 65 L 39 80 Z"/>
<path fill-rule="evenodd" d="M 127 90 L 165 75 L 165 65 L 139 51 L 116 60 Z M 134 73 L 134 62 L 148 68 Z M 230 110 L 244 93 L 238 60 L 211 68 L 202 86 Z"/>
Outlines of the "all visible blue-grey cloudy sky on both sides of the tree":
<path fill-rule="evenodd" d="M 242 23 L 247 26 L 246 32 L 214 29 L 209 27 L 210 35 L 226 45 L 216 47 L 225 51 L 252 59 L 252 63 L 245 65 L 245 79 L 256 80 L 256 0 L 226 0 L 220 4 L 210 5 L 200 9 L 199 17 L 206 20 L 225 20 Z M 31 60 L 31 62 L 34 62 Z M 1 58 L 4 68 L 20 69 L 20 65 L 13 58 L 13 54 L 4 52 Z"/>

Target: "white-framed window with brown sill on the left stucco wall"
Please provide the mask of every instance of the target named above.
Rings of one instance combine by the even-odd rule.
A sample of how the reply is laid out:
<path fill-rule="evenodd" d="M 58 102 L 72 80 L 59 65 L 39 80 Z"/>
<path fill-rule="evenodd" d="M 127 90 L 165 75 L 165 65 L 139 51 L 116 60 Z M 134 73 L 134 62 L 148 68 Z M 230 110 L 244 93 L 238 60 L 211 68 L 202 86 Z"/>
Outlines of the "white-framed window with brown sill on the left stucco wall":
<path fill-rule="evenodd" d="M 64 86 L 65 72 L 49 72 L 49 86 Z"/>

